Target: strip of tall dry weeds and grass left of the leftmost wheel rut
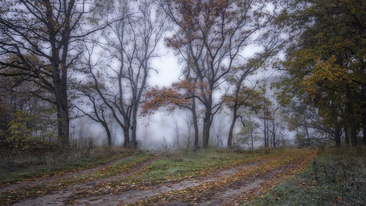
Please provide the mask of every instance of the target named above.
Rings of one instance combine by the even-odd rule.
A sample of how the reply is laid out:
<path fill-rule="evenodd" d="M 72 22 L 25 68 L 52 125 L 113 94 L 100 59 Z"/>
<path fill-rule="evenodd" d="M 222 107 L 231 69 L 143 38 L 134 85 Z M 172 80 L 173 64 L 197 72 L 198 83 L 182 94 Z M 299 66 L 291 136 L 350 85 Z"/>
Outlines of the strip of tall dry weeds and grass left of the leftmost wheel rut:
<path fill-rule="evenodd" d="M 71 148 L 68 151 L 37 153 L 0 150 L 0 187 L 1 184 L 92 168 L 133 154 L 136 151 L 122 147 L 94 147 L 88 151 Z"/>

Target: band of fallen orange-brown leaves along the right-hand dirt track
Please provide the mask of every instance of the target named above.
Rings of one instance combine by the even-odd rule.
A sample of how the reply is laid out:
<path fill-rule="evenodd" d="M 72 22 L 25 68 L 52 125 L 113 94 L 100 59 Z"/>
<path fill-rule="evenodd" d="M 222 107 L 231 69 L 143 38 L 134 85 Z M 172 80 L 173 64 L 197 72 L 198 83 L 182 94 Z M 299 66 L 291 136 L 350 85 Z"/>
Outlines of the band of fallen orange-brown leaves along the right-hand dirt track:
<path fill-rule="evenodd" d="M 262 162 L 259 166 L 248 166 L 238 173 L 219 178 L 217 181 L 205 181 L 197 187 L 170 191 L 169 193 L 160 194 L 151 199 L 140 200 L 140 202 L 131 205 L 160 205 L 171 201 L 206 202 L 206 200 L 214 198 L 214 194 L 218 191 L 228 190 L 228 188 L 233 187 L 234 184 L 239 181 L 245 182 L 248 179 L 255 178 L 266 179 L 266 181 L 260 184 L 260 187 L 255 191 L 257 195 L 264 194 L 270 190 L 277 181 L 304 170 L 315 156 L 316 152 L 314 150 L 286 150 L 284 153 L 266 159 L 266 161 Z M 265 177 L 266 173 L 280 168 L 280 171 L 283 173 L 276 176 Z M 253 191 L 251 192 L 253 193 Z M 242 196 L 232 198 L 231 202 L 235 205 L 239 201 L 249 201 L 252 197 L 252 195 L 243 194 Z"/>

